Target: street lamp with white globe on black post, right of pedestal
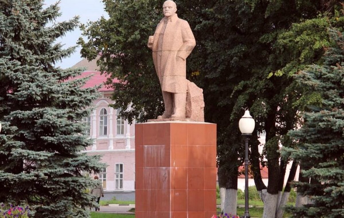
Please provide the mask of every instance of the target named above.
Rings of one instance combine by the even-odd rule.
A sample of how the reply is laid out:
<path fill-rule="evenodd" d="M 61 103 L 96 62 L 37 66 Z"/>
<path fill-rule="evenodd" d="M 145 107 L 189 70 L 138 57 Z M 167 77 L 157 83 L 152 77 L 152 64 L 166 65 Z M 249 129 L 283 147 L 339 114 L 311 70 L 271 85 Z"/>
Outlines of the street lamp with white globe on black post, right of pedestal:
<path fill-rule="evenodd" d="M 248 212 L 248 140 L 255 129 L 255 120 L 248 110 L 245 111 L 244 116 L 239 120 L 239 129 L 241 135 L 245 137 L 245 213 L 243 218 L 250 218 L 250 213 Z"/>

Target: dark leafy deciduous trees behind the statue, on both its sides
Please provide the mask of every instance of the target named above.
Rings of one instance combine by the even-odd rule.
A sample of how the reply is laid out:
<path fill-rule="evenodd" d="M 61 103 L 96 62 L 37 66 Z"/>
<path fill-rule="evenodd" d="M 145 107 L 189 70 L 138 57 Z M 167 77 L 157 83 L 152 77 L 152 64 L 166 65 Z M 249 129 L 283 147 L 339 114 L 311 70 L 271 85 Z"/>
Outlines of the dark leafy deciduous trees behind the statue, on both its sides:
<path fill-rule="evenodd" d="M 162 18 L 163 1 L 104 3 L 110 18 L 84 27 L 88 40 L 79 40 L 82 55 L 92 59 L 101 52 L 101 70 L 122 81 L 113 84 L 113 98 L 114 107 L 131 106 L 123 112 L 126 118 L 140 116 L 144 121 L 157 117 L 162 112 L 161 93 L 146 44 Z M 255 149 L 250 150 L 250 157 L 255 180 L 260 181 L 257 188 L 266 188 L 258 176 L 265 157 L 257 149 L 258 134 L 266 133 L 268 192 L 276 194 L 282 190 L 276 184 L 283 179 L 278 143 L 293 147 L 286 134 L 302 122 L 298 111 L 306 101 L 321 101 L 319 95 L 305 92 L 292 75 L 321 62 L 323 47 L 331 44 L 327 28 L 343 26 L 340 3 L 176 0 L 176 4 L 179 17 L 190 23 L 197 44 L 187 59 L 187 78 L 203 88 L 206 122 L 217 124 L 219 185 L 237 188 L 244 154 L 237 124 L 249 108 L 256 120 L 250 140 Z M 133 13 L 135 19 L 127 16 Z"/>

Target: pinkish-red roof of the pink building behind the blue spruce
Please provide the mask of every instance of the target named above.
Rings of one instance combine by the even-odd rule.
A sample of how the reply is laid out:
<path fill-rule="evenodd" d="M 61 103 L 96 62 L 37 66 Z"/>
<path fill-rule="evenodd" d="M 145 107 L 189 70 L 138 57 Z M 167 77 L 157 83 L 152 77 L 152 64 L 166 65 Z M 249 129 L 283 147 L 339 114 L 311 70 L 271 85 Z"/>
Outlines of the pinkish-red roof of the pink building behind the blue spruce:
<path fill-rule="evenodd" d="M 85 78 L 85 77 L 90 76 L 90 75 L 91 75 L 90 79 L 87 80 L 87 82 L 85 83 L 85 85 L 83 85 L 82 88 L 90 88 L 90 87 L 95 87 L 97 85 L 103 84 L 101 86 L 101 88 L 99 89 L 99 91 L 104 92 L 104 91 L 113 91 L 114 90 L 109 85 L 104 85 L 104 82 L 106 82 L 106 80 L 108 78 L 110 78 L 110 76 L 105 74 L 105 73 L 100 74 L 100 71 L 82 72 L 81 75 L 79 75 L 73 79 Z M 113 82 L 119 82 L 118 79 L 113 79 L 112 81 Z"/>

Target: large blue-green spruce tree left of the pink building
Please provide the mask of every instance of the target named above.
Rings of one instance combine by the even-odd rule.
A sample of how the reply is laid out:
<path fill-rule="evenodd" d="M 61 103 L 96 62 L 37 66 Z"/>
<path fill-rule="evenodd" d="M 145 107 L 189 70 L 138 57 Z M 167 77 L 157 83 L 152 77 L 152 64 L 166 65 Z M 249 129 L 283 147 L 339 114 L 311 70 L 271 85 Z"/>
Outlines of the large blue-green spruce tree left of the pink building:
<path fill-rule="evenodd" d="M 99 156 L 82 151 L 92 140 L 79 122 L 97 90 L 81 89 L 81 70 L 54 67 L 74 48 L 55 40 L 74 30 L 78 18 L 55 23 L 58 3 L 43 0 L 0 4 L 0 202 L 29 205 L 33 217 L 89 217 Z M 53 25 L 48 25 L 53 22 Z"/>

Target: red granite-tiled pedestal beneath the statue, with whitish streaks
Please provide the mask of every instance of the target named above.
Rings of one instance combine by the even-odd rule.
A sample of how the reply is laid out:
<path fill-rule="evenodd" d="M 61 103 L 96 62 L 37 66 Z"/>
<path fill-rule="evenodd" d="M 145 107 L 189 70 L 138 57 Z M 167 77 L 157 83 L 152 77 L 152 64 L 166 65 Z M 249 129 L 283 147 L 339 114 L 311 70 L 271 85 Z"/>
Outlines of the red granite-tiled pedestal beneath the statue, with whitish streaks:
<path fill-rule="evenodd" d="M 216 124 L 135 125 L 135 217 L 216 214 Z"/>

